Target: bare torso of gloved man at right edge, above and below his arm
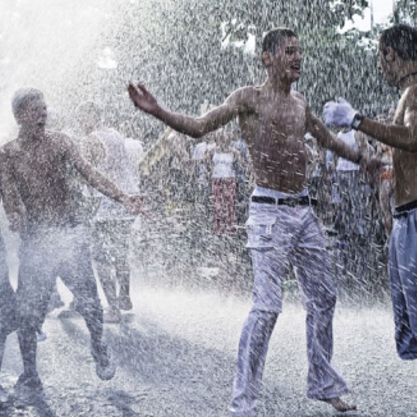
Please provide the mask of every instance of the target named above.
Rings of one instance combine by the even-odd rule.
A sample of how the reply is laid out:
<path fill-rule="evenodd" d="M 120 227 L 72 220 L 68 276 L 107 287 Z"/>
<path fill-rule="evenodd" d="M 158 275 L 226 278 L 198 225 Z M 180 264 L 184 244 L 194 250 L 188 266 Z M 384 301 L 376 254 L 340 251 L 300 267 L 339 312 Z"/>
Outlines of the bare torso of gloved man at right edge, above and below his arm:
<path fill-rule="evenodd" d="M 406 90 L 398 105 L 394 116 L 394 124 L 404 125 L 407 122 L 407 94 L 417 93 L 417 86 L 413 91 Z M 400 206 L 410 201 L 417 200 L 417 154 L 407 150 L 394 148 L 392 162 L 395 178 L 395 205 Z"/>

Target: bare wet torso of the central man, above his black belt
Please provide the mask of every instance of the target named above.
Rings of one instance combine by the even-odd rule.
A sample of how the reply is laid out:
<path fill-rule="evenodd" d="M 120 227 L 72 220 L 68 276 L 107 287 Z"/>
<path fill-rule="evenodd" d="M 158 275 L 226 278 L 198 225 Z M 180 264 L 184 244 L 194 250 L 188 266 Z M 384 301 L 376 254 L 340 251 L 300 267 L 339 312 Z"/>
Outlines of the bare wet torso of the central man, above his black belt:
<path fill-rule="evenodd" d="M 255 171 L 256 184 L 285 193 L 306 186 L 307 103 L 297 92 L 272 97 L 262 87 L 248 87 L 248 110 L 239 116 Z"/>

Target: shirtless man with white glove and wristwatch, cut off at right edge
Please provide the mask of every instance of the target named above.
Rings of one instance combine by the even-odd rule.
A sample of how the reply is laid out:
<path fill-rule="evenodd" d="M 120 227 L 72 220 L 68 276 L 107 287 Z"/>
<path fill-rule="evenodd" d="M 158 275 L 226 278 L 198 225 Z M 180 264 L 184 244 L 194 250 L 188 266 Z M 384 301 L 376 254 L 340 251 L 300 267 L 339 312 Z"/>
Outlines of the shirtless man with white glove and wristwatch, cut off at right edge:
<path fill-rule="evenodd" d="M 395 211 L 389 244 L 395 342 L 402 359 L 417 358 L 417 29 L 395 25 L 384 30 L 378 45 L 378 67 L 401 91 L 393 124 L 364 118 L 349 103 L 326 103 L 327 124 L 361 130 L 392 146 Z"/>

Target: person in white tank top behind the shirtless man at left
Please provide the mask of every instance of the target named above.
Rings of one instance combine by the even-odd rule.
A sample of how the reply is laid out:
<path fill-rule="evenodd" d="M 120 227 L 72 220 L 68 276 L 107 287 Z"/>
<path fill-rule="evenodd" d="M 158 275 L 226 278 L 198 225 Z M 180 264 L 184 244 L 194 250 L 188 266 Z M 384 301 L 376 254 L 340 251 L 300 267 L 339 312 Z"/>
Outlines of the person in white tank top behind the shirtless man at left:
<path fill-rule="evenodd" d="M 126 146 L 125 139 L 116 129 L 99 128 L 96 124 L 89 130 L 81 145 L 86 159 L 101 173 L 111 178 L 124 192 L 138 195 L 138 169 L 132 164 L 129 155 L 137 153 L 138 147 L 132 146 L 130 142 L 129 146 Z M 130 299 L 130 267 L 127 255 L 131 226 L 136 216 L 132 216 L 121 204 L 95 190 L 92 196 L 99 201 L 93 219 L 92 257 L 96 261 L 97 274 L 109 306 L 104 321 L 119 323 L 120 310 L 131 310 L 133 307 Z"/>

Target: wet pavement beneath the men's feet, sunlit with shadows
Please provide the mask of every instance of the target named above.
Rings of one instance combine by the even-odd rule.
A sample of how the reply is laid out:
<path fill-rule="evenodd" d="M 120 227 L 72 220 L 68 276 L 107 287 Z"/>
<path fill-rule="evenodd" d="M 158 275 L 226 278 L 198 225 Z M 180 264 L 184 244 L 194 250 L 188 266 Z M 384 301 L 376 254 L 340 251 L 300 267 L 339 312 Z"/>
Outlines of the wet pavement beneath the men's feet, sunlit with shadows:
<path fill-rule="evenodd" d="M 118 363 L 102 382 L 81 318 L 48 316 L 38 367 L 45 403 L 0 409 L 3 416 L 223 417 L 228 415 L 240 330 L 250 299 L 216 292 L 135 289 L 134 312 L 105 337 Z M 272 335 L 259 416 L 330 416 L 307 399 L 305 314 L 287 303 Z M 334 363 L 345 375 L 358 411 L 348 415 L 417 415 L 417 367 L 395 353 L 390 306 L 338 306 Z M 22 370 L 15 334 L 9 336 L 1 383 L 12 389 Z M 344 414 L 347 415 L 347 414 Z"/>

